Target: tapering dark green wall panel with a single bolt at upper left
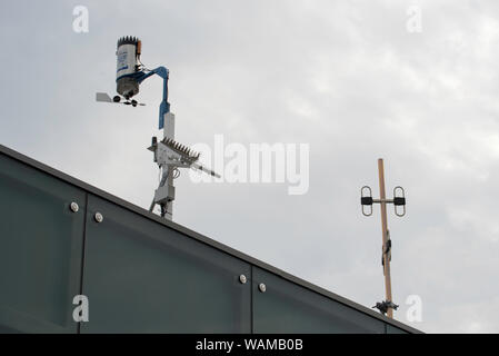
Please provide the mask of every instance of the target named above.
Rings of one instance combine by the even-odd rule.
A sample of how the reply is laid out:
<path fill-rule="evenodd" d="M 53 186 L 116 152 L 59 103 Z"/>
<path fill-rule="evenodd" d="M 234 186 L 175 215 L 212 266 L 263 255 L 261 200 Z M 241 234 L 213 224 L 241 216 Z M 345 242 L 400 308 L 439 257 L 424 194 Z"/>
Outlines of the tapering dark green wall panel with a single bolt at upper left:
<path fill-rule="evenodd" d="M 385 333 L 379 319 L 261 268 L 252 273 L 255 333 Z"/>

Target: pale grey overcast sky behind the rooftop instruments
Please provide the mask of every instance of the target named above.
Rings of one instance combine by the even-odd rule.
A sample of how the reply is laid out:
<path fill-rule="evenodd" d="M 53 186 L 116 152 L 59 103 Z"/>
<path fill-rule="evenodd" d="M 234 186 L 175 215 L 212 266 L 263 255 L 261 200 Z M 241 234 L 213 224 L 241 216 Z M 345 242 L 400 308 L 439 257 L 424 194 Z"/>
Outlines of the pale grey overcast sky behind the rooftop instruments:
<path fill-rule="evenodd" d="M 89 32 L 73 30 L 73 8 Z M 408 9 L 421 31 L 408 31 Z M 389 207 L 396 318 L 425 332 L 499 333 L 499 2 L 2 1 L 0 144 L 148 208 L 161 80 L 146 107 L 114 95 L 116 42 L 170 69 L 188 145 L 309 144 L 310 188 L 176 180 L 174 220 L 367 307 L 383 299 L 379 208 L 359 190 L 406 189 Z M 422 298 L 408 323 L 406 298 Z"/>

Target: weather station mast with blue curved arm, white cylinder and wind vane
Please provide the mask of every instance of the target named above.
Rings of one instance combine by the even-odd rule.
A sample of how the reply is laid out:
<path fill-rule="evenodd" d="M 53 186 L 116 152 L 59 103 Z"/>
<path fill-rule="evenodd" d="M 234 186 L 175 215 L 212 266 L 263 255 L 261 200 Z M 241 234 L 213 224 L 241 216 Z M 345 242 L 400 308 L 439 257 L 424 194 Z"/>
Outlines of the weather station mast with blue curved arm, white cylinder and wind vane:
<path fill-rule="evenodd" d="M 169 70 L 166 67 L 158 67 L 152 70 L 146 68 L 140 61 L 141 51 L 142 42 L 136 37 L 127 36 L 118 40 L 116 83 L 119 95 L 111 99 L 106 92 L 97 92 L 96 100 L 123 103 L 131 107 L 144 106 L 144 103 L 131 99 L 139 93 L 140 83 L 153 75 L 163 79 L 163 95 L 159 106 L 158 121 L 158 128 L 163 130 L 163 139 L 158 141 L 157 137 L 152 137 L 152 144 L 148 148 L 154 154 L 153 161 L 159 166 L 161 179 L 158 189 L 154 190 L 149 210 L 152 211 L 156 205 L 159 205 L 161 217 L 171 220 L 174 200 L 173 179 L 179 177 L 179 168 L 197 169 L 217 178 L 220 178 L 220 176 L 198 164 L 200 154 L 174 140 L 174 115 L 170 111 L 170 103 L 168 102 Z"/>

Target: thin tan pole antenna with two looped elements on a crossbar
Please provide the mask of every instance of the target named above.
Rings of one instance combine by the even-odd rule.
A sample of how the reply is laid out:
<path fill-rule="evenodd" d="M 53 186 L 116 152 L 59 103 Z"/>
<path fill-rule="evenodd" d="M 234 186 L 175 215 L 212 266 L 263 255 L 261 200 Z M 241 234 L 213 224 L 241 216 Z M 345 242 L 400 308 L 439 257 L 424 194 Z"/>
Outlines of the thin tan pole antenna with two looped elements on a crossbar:
<path fill-rule="evenodd" d="M 362 206 L 362 214 L 365 216 L 372 215 L 372 204 L 379 204 L 381 208 L 381 230 L 382 230 L 382 256 L 381 265 L 383 266 L 385 275 L 385 291 L 387 299 L 377 303 L 373 308 L 379 309 L 381 314 L 387 314 L 389 318 L 393 318 L 393 310 L 397 310 L 398 305 L 393 304 L 391 300 L 391 276 L 390 276 L 390 261 L 391 261 L 391 239 L 390 231 L 388 230 L 387 222 L 387 204 L 393 204 L 395 214 L 398 217 L 406 215 L 406 192 L 402 187 L 397 186 L 393 188 L 393 199 L 387 199 L 385 192 L 385 167 L 383 159 L 378 159 L 378 175 L 379 175 L 379 199 L 372 199 L 372 190 L 369 186 L 363 186 L 360 189 L 360 204 Z M 401 195 L 397 196 L 397 192 Z M 369 207 L 367 211 L 365 207 Z M 402 207 L 402 210 L 397 207 Z"/>

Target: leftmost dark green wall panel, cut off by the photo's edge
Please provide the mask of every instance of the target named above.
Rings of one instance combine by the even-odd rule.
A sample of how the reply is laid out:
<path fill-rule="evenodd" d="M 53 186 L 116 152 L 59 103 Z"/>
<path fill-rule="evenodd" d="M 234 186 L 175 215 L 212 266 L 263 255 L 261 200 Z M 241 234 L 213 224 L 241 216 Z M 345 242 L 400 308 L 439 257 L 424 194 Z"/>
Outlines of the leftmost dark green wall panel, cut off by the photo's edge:
<path fill-rule="evenodd" d="M 83 190 L 0 155 L 0 325 L 7 329 L 77 332 L 84 200 Z"/>

